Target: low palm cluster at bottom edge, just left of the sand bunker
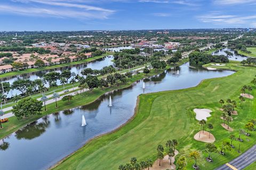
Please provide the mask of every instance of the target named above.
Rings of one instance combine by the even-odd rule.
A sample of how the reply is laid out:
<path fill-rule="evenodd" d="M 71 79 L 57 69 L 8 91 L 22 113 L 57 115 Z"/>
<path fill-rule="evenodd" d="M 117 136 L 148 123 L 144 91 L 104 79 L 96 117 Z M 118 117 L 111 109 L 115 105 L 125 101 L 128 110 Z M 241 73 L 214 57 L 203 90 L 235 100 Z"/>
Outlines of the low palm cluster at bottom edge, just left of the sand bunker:
<path fill-rule="evenodd" d="M 118 167 L 119 170 L 143 170 L 153 166 L 153 162 L 151 159 L 147 159 L 146 161 L 138 162 L 137 158 L 132 157 L 130 163 L 125 165 L 120 165 Z"/>

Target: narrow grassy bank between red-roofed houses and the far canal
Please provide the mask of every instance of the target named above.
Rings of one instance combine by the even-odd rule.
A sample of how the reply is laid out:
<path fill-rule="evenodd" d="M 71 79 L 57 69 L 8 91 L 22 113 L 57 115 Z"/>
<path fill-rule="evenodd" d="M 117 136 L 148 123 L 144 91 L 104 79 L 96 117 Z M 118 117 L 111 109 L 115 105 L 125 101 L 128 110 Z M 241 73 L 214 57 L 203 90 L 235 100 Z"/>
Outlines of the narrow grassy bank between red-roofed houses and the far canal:
<path fill-rule="evenodd" d="M 43 70 L 57 69 L 60 67 L 66 67 L 66 66 L 71 66 L 71 65 L 76 65 L 76 64 L 83 64 L 83 63 L 97 60 L 99 58 L 103 58 L 103 57 L 105 57 L 107 55 L 111 55 L 111 54 L 113 54 L 113 53 L 107 52 L 106 54 L 103 54 L 101 56 L 95 56 L 95 57 L 87 58 L 85 60 L 81 60 L 81 61 L 77 61 L 77 62 L 64 63 L 64 64 L 41 67 L 41 68 L 34 68 L 34 69 L 26 69 L 26 70 L 22 70 L 22 71 L 12 71 L 12 72 L 8 72 L 8 73 L 0 74 L 0 78 L 6 78 L 6 77 L 14 76 L 14 75 L 32 73 L 32 72 L 43 71 Z"/>

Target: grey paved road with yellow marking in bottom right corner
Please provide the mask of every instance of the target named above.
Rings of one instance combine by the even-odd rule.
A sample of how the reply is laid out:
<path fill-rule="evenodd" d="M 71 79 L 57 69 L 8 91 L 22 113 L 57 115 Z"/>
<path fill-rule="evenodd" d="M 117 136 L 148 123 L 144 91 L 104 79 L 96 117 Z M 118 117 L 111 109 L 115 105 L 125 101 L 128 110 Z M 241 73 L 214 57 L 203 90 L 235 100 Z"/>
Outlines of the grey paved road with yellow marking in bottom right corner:
<path fill-rule="evenodd" d="M 228 163 L 234 168 L 231 168 L 225 164 L 219 168 L 216 168 L 215 170 L 230 170 L 230 169 L 242 170 L 254 162 L 256 162 L 256 145 L 254 145 L 252 148 L 244 152 L 244 154 L 238 156 L 237 158 L 233 159 L 231 162 Z M 254 169 L 256 169 L 256 167 Z"/>

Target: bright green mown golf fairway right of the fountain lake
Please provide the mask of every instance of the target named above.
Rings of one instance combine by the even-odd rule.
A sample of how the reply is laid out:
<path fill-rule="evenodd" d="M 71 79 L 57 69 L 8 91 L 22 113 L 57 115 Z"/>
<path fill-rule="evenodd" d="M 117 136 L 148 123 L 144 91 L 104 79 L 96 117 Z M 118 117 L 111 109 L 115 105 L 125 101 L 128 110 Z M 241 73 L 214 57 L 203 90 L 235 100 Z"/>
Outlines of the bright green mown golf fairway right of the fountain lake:
<path fill-rule="evenodd" d="M 165 145 L 168 139 L 178 140 L 178 157 L 185 155 L 187 168 L 192 169 L 194 161 L 188 157 L 189 152 L 195 149 L 201 152 L 205 148 L 205 143 L 193 138 L 200 130 L 193 109 L 209 108 L 213 111 L 207 123 L 213 124 L 211 133 L 219 147 L 222 141 L 229 141 L 231 134 L 220 125 L 219 100 L 231 98 L 239 106 L 240 89 L 244 84 L 252 86 L 250 82 L 256 74 L 254 67 L 244 67 L 237 63 L 229 63 L 227 66 L 237 72 L 228 77 L 204 80 L 193 88 L 140 95 L 132 121 L 113 133 L 90 141 L 54 169 L 117 169 L 119 165 L 129 162 L 131 157 L 137 157 L 138 160 L 151 157 L 156 160 L 157 145 Z M 256 96 L 255 90 L 253 95 Z M 238 136 L 239 129 L 244 128 L 248 120 L 255 118 L 255 106 L 256 100 L 246 99 L 244 109 L 236 108 L 238 116 L 233 116 L 234 121 L 230 123 L 234 129 L 233 134 Z M 252 132 L 251 137 L 242 135 L 242 138 L 244 142 L 241 143 L 241 151 L 244 152 L 255 144 L 256 133 Z M 238 142 L 234 141 L 233 144 L 236 148 L 227 151 L 226 156 L 212 154 L 213 163 L 207 163 L 206 154 L 202 152 L 198 161 L 201 169 L 214 169 L 237 157 Z"/>

